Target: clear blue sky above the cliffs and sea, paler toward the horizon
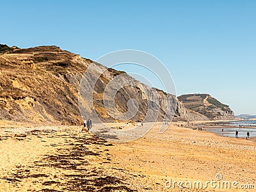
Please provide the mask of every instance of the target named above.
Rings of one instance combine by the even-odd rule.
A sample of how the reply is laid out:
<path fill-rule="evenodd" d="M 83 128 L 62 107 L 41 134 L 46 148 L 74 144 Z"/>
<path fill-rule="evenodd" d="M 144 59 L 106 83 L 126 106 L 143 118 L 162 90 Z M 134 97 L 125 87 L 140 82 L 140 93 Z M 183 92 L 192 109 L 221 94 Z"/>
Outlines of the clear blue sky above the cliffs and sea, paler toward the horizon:
<path fill-rule="evenodd" d="M 85 58 L 138 49 L 177 95 L 210 93 L 256 114 L 256 1 L 2 1 L 0 44 L 58 45 Z"/>

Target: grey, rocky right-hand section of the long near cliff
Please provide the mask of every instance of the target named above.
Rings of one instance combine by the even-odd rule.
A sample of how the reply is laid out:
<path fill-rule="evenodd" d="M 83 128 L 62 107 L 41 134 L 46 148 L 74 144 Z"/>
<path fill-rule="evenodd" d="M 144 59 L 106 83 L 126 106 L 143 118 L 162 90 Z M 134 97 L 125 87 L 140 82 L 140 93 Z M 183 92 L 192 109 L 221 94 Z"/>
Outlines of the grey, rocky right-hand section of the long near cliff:
<path fill-rule="evenodd" d="M 174 95 L 150 88 L 124 72 L 102 65 L 92 65 L 91 63 L 90 72 L 86 68 L 84 74 L 68 74 L 65 77 L 68 83 L 76 87 L 82 79 L 79 87 L 82 99 L 79 102 L 82 115 L 86 119 L 91 116 L 95 121 L 96 116 L 99 116 L 102 122 L 119 122 L 120 119 L 131 122 L 207 120 L 206 116 L 186 109 Z M 93 86 L 92 90 L 87 89 L 88 86 Z M 93 104 L 88 104 L 90 97 L 87 96 L 91 92 Z M 130 99 L 136 102 L 129 104 Z M 114 102 L 113 105 L 111 102 Z M 131 108 L 135 108 L 136 113 L 132 113 Z"/>

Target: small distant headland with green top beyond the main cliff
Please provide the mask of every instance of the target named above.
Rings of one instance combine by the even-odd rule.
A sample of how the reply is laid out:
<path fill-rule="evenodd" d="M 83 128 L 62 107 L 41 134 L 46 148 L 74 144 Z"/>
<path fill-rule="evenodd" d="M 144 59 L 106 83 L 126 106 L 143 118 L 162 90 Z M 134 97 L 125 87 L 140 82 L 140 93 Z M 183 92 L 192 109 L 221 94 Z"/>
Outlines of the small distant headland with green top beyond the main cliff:
<path fill-rule="evenodd" d="M 232 120 L 234 112 L 209 94 L 188 94 L 178 97 L 188 109 L 196 111 L 211 120 Z"/>

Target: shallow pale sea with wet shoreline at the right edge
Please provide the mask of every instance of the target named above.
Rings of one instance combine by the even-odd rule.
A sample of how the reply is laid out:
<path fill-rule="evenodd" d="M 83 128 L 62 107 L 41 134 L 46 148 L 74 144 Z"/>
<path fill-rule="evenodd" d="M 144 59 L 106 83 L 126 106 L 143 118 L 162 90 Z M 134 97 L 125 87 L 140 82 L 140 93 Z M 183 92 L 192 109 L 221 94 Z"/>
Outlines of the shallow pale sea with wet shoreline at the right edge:
<path fill-rule="evenodd" d="M 223 125 L 223 127 L 221 127 Z M 241 127 L 239 127 L 241 125 Z M 232 126 L 232 127 L 226 127 Z M 252 127 L 252 128 L 251 128 Z M 250 132 L 250 138 L 256 138 L 256 121 L 248 120 L 248 121 L 232 121 L 225 122 L 223 124 L 220 123 L 220 127 L 214 128 L 205 128 L 206 131 L 215 132 L 220 136 L 236 138 L 236 131 L 238 131 L 238 138 L 246 138 L 247 132 Z M 222 132 L 222 128 L 224 132 Z"/>

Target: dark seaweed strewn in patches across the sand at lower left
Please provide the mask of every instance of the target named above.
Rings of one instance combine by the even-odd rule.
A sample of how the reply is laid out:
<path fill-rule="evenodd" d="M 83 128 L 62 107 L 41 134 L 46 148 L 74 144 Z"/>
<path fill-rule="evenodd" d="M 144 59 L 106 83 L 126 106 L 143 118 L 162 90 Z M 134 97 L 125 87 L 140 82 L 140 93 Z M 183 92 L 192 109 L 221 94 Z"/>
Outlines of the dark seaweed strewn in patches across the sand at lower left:
<path fill-rule="evenodd" d="M 47 131 L 49 133 L 49 131 Z M 31 131 L 28 134 L 32 134 L 35 136 L 39 136 L 45 134 L 45 131 Z M 51 132 L 51 134 L 56 134 L 55 132 Z M 24 135 L 15 135 L 16 140 L 26 139 Z M 97 138 L 97 136 L 90 136 L 90 138 L 86 135 L 83 137 L 71 136 L 70 138 L 75 140 L 75 142 L 70 142 L 68 148 L 57 148 L 58 154 L 54 155 L 45 155 L 40 161 L 35 161 L 34 165 L 30 168 L 39 169 L 42 167 L 54 167 L 60 168 L 63 170 L 74 170 L 76 174 L 72 175 L 64 175 L 63 180 L 61 182 L 57 182 L 52 180 L 50 175 L 45 174 L 31 174 L 30 171 L 22 166 L 17 167 L 17 173 L 13 174 L 12 177 L 2 178 L 8 180 L 8 182 L 17 183 L 21 182 L 22 179 L 33 178 L 38 182 L 38 178 L 47 178 L 49 180 L 42 182 L 44 186 L 56 186 L 61 188 L 61 191 L 134 191 L 133 189 L 128 188 L 129 184 L 125 183 L 124 180 L 119 179 L 117 177 L 113 177 L 112 175 L 104 175 L 101 170 L 97 168 L 86 168 L 90 164 L 90 162 L 86 161 L 83 157 L 86 156 L 100 156 L 99 153 L 92 152 L 89 148 L 84 147 L 85 145 L 97 145 L 97 147 L 102 146 L 112 146 L 111 143 L 107 143 L 107 141 L 101 140 Z M 74 144 L 79 142 L 79 144 Z M 54 146 L 57 147 L 57 146 Z M 106 150 L 108 151 L 108 150 Z M 104 154 L 104 156 L 109 156 L 110 154 Z M 106 159 L 107 162 L 111 161 L 111 159 Z M 77 160 L 79 163 L 77 163 Z M 63 182 L 62 182 L 63 181 Z M 35 190 L 34 190 L 35 191 Z M 55 189 L 44 188 L 39 191 L 58 191 Z"/>

